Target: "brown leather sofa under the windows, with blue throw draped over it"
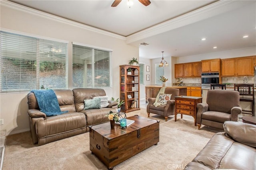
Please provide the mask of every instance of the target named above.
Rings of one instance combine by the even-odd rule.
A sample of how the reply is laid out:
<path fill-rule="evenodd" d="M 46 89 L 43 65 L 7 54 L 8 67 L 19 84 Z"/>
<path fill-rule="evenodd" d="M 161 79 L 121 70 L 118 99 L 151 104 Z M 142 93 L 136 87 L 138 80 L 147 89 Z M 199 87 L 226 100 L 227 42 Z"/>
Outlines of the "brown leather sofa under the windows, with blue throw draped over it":
<path fill-rule="evenodd" d="M 84 110 L 84 100 L 106 96 L 103 89 L 76 88 L 73 90 L 54 90 L 61 111 L 67 113 L 47 117 L 41 112 L 33 92 L 28 93 L 28 115 L 30 132 L 34 144 L 44 145 L 58 139 L 89 131 L 89 126 L 108 121 L 105 116 L 110 110 L 118 112 L 117 102 L 100 109 Z"/>

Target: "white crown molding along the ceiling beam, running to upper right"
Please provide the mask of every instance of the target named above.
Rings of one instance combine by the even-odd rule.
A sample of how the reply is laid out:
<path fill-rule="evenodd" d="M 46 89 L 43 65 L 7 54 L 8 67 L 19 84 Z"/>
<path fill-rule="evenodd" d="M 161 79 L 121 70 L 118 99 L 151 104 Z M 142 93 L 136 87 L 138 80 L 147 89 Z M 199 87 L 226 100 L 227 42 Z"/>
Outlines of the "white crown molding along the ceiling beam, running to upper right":
<path fill-rule="evenodd" d="M 134 33 L 132 35 L 127 36 L 126 43 L 130 44 L 135 41 L 139 41 L 141 39 L 145 39 L 147 37 L 152 37 L 154 35 L 158 35 L 160 33 L 164 33 L 166 31 L 171 31 L 173 29 L 204 20 L 206 18 L 210 18 L 212 16 L 216 16 L 227 12 L 229 10 L 234 10 L 235 8 L 239 8 L 244 4 L 238 1 L 229 1 L 229 0 L 219 0 L 214 2 L 208 6 L 204 6 L 199 8 L 198 10 L 194 10 L 182 16 L 178 16 L 171 20 L 165 21 L 158 25 L 152 26 L 148 29 L 144 29 L 138 33 Z M 141 42 L 140 42 L 141 43 Z"/>

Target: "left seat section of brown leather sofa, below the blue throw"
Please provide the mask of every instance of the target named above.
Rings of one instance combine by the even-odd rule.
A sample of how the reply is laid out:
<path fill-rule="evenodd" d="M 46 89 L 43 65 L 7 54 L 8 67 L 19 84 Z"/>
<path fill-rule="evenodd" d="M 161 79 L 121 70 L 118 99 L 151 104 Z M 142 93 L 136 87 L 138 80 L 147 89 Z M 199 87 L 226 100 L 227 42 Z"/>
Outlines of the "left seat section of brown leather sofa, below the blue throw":
<path fill-rule="evenodd" d="M 68 112 L 36 121 L 38 138 L 86 127 L 84 113 Z"/>

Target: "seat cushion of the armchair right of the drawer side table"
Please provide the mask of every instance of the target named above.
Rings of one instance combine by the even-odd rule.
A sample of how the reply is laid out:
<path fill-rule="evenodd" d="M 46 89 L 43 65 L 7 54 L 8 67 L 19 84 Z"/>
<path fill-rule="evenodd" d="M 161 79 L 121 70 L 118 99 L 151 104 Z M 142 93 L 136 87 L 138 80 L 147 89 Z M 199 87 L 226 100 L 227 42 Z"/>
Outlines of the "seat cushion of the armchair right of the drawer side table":
<path fill-rule="evenodd" d="M 229 113 L 222 113 L 218 111 L 206 111 L 202 114 L 202 119 L 216 121 L 220 123 L 224 123 L 225 121 L 229 121 L 231 114 Z"/>

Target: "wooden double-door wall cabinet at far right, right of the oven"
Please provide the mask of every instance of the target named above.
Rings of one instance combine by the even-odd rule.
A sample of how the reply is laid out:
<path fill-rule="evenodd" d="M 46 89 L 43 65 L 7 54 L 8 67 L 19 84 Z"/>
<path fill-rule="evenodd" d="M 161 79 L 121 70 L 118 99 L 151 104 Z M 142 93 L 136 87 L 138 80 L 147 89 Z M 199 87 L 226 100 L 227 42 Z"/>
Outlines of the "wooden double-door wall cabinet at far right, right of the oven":
<path fill-rule="evenodd" d="M 253 76 L 254 56 L 222 59 L 223 76 Z"/>

